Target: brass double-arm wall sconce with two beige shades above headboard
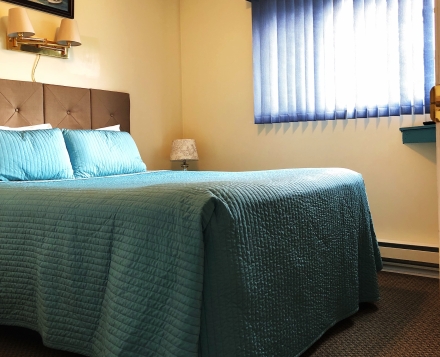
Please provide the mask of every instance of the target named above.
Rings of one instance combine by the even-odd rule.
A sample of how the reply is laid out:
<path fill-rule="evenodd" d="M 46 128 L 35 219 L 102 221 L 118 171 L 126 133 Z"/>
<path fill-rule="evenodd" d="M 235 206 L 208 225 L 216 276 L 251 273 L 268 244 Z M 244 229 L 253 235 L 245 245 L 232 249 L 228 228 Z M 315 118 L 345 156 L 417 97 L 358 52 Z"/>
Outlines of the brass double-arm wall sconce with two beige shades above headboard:
<path fill-rule="evenodd" d="M 34 35 L 35 31 L 26 10 L 19 7 L 9 9 L 6 41 L 8 50 L 69 58 L 69 48 L 81 45 L 78 25 L 71 19 L 61 20 L 55 41 L 32 37 Z"/>

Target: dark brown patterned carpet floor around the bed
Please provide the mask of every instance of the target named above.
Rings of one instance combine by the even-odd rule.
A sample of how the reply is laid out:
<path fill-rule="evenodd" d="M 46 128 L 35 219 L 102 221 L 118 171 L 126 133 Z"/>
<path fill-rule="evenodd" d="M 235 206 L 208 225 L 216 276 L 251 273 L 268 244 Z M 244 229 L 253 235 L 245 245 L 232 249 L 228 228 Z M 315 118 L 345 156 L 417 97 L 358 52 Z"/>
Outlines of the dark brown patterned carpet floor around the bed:
<path fill-rule="evenodd" d="M 327 331 L 303 357 L 440 356 L 439 281 L 380 272 L 379 283 L 378 303 L 363 304 L 357 314 Z M 0 326 L 0 357 L 81 356 L 43 346 L 36 332 Z"/>

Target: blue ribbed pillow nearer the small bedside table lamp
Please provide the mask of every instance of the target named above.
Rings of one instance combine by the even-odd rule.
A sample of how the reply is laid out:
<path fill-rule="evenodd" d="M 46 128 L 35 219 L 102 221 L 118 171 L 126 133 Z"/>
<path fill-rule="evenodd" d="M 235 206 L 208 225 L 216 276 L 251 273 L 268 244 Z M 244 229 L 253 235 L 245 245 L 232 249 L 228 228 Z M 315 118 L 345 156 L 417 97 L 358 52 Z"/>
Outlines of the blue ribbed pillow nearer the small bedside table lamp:
<path fill-rule="evenodd" d="M 77 178 L 145 172 L 146 166 L 129 133 L 107 130 L 63 129 Z"/>

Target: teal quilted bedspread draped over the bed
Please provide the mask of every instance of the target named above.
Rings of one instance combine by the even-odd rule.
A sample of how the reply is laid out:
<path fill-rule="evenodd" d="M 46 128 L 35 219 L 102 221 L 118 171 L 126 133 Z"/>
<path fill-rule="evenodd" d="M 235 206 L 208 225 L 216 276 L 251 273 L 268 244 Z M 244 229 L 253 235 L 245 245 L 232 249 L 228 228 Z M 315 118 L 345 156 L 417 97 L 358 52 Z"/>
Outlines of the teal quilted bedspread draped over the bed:
<path fill-rule="evenodd" d="M 381 268 L 346 169 L 0 184 L 0 324 L 86 356 L 295 356 Z"/>

